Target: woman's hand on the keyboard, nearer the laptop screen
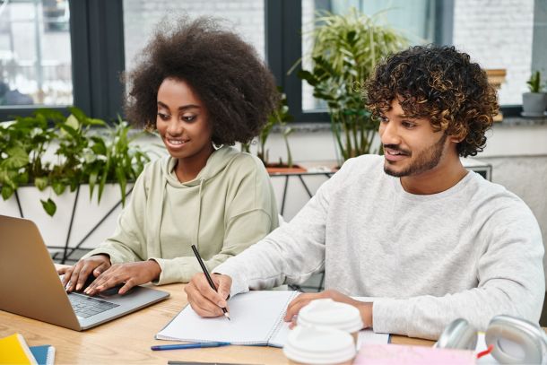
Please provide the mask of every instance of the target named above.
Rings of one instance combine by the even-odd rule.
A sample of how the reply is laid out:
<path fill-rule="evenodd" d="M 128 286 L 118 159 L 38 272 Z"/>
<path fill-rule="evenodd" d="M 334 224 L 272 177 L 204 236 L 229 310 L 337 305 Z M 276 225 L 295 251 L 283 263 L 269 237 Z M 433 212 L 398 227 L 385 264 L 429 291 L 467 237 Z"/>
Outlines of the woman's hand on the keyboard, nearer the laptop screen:
<path fill-rule="evenodd" d="M 110 257 L 94 255 L 78 261 L 74 266 L 57 269 L 57 274 L 65 274 L 63 286 L 66 291 L 81 291 L 90 274 L 97 277 L 110 267 Z"/>

